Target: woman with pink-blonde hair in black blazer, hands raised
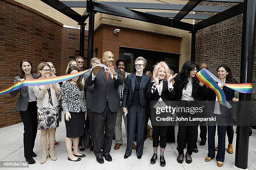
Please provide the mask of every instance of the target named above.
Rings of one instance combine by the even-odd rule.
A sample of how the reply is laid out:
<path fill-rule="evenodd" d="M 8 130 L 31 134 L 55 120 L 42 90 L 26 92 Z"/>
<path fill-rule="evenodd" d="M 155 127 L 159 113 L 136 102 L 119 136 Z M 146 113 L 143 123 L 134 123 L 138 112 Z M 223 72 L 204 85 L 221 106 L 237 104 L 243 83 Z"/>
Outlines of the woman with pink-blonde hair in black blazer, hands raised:
<path fill-rule="evenodd" d="M 172 86 L 172 80 L 174 77 L 176 77 L 177 74 L 171 75 L 170 70 L 166 62 L 159 62 L 155 65 L 154 71 L 153 71 L 153 79 L 154 81 L 148 83 L 148 90 L 147 90 L 147 96 L 151 100 L 151 114 L 156 113 L 156 109 L 154 108 L 154 105 L 157 102 L 164 102 L 164 101 L 170 101 L 174 97 L 173 92 L 173 86 Z M 151 122 L 152 123 L 152 122 Z M 161 123 L 161 122 L 160 122 Z M 165 159 L 164 159 L 164 149 L 166 147 L 166 136 L 167 136 L 167 130 L 168 126 L 163 125 L 154 125 L 152 123 L 153 127 L 153 148 L 154 148 L 154 154 L 150 160 L 151 164 L 156 163 L 157 159 L 157 148 L 159 146 L 159 137 L 160 137 L 160 166 L 164 167 L 166 165 Z"/>

